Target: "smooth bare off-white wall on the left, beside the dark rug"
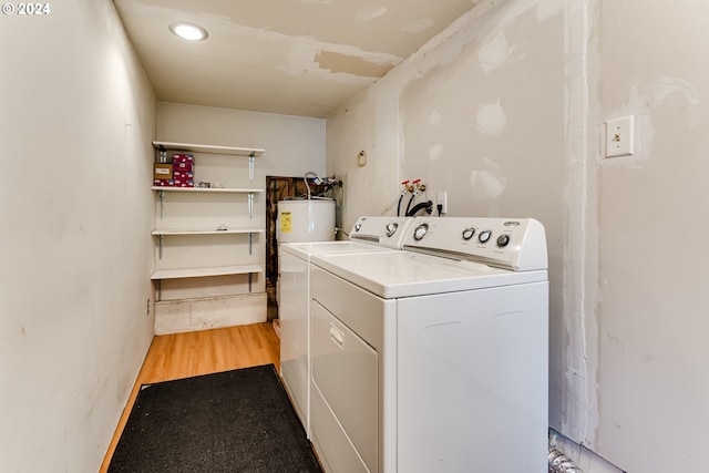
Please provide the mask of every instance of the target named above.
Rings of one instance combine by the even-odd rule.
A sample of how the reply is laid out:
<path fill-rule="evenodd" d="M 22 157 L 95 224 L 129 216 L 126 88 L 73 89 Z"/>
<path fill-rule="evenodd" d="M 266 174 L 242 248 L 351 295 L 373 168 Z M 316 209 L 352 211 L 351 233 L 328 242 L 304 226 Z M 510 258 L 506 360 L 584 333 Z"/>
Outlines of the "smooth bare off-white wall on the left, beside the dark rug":
<path fill-rule="evenodd" d="M 153 336 L 155 97 L 110 0 L 0 18 L 0 470 L 95 472 Z"/>

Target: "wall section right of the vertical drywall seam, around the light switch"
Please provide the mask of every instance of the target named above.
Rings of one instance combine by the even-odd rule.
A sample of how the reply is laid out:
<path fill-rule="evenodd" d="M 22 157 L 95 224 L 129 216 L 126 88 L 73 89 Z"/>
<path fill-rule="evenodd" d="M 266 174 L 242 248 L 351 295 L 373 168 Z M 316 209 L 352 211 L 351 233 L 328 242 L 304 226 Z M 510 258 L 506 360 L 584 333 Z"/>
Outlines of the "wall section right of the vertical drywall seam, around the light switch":
<path fill-rule="evenodd" d="M 600 122 L 635 115 L 633 157 L 598 162 L 597 451 L 634 472 L 709 459 L 709 4 L 603 0 Z"/>

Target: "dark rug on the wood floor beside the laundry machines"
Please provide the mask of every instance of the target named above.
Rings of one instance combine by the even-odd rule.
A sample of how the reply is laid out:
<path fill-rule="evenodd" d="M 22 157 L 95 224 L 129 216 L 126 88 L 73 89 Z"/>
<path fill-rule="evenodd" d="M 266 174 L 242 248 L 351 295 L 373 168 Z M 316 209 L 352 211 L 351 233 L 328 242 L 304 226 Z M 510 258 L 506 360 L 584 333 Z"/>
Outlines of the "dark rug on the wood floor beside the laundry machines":
<path fill-rule="evenodd" d="M 110 473 L 320 473 L 273 364 L 144 384 Z"/>

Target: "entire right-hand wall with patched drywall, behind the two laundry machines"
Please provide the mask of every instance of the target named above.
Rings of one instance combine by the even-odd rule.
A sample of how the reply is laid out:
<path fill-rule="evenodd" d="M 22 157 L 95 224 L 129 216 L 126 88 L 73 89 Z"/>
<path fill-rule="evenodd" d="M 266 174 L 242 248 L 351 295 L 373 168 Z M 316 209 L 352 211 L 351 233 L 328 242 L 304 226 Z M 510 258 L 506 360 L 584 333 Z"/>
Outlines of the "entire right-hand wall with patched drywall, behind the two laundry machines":
<path fill-rule="evenodd" d="M 417 177 L 451 216 L 546 226 L 549 423 L 588 472 L 706 465 L 708 9 L 489 0 L 327 123 L 345 227 L 395 213 Z M 638 154 L 602 160 L 604 122 L 626 114 Z"/>

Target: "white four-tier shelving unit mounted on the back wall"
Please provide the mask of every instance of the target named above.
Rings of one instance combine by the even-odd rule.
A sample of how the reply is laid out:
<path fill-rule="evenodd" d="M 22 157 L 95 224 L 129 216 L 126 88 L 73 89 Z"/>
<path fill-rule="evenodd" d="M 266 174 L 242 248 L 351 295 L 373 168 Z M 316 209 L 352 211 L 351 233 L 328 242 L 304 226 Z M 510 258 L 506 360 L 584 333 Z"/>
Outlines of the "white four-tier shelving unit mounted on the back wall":
<path fill-rule="evenodd" d="M 224 304 L 251 296 L 263 299 L 263 310 L 260 302 L 249 300 L 247 305 L 251 312 L 263 311 L 265 321 L 265 216 L 255 215 L 265 183 L 254 185 L 256 157 L 265 150 L 166 141 L 154 141 L 153 146 L 165 154 L 193 154 L 196 185 L 199 181 L 220 182 L 218 187 L 152 186 L 157 196 L 155 229 L 151 233 L 156 241 L 151 276 L 156 289 L 156 333 L 239 325 L 224 313 L 213 321 L 207 320 L 209 313 L 195 316 L 201 306 L 214 305 L 217 299 Z M 235 157 L 246 157 L 248 167 L 233 161 Z M 246 291 L 238 289 L 239 277 L 246 278 Z M 260 281 L 256 288 L 255 278 Z M 181 279 L 185 281 L 176 281 Z M 176 281 L 175 286 L 167 288 L 171 281 Z M 234 294 L 224 294 L 223 288 L 229 284 L 236 287 Z M 169 306 L 165 313 L 160 310 L 162 306 Z M 237 309 L 234 307 L 235 312 Z"/>

